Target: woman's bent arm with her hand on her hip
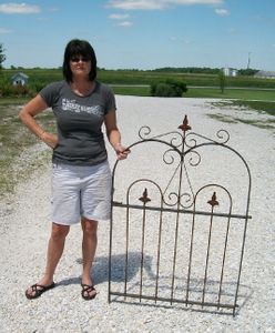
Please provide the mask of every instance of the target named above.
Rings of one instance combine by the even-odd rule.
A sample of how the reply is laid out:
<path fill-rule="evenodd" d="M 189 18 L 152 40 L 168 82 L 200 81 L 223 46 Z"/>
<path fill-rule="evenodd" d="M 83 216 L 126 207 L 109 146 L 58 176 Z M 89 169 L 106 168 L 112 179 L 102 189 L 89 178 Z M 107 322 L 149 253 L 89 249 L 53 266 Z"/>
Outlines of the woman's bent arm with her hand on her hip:
<path fill-rule="evenodd" d="M 38 94 L 23 107 L 19 112 L 19 118 L 33 134 L 49 147 L 54 148 L 58 144 L 58 137 L 45 132 L 34 119 L 37 114 L 43 112 L 47 108 L 47 103 L 42 97 Z"/>

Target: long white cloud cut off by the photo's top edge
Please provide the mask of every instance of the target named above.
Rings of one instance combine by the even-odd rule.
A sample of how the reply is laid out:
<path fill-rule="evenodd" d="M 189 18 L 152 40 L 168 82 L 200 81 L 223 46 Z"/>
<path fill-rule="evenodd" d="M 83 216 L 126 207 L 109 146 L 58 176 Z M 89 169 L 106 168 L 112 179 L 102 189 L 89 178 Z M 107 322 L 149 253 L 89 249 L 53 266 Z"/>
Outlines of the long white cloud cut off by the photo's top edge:
<path fill-rule="evenodd" d="M 171 6 L 222 4 L 224 0 L 109 0 L 108 7 L 124 10 L 160 10 Z"/>

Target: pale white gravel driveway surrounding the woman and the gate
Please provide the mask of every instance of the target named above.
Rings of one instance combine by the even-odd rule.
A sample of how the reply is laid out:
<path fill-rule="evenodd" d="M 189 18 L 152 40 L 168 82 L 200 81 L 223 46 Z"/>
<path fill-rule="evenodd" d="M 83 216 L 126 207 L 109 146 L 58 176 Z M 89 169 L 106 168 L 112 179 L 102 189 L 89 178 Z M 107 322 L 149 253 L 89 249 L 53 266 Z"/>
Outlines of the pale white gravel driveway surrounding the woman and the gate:
<path fill-rule="evenodd" d="M 226 110 L 213 109 L 210 100 L 118 95 L 116 102 L 119 127 L 126 145 L 139 140 L 142 125 L 149 125 L 155 134 L 172 131 L 182 123 L 184 114 L 189 115 L 192 130 L 206 137 L 213 138 L 222 128 L 230 132 L 230 145 L 245 158 L 252 173 L 252 220 L 248 221 L 241 280 L 245 286 L 245 302 L 235 317 L 181 304 L 109 304 L 110 228 L 109 222 L 103 221 L 99 228 L 93 270 L 99 292 L 95 300 L 88 302 L 81 297 L 80 225 L 71 228 L 55 274 L 57 287 L 38 300 L 27 300 L 24 290 L 43 272 L 51 226 L 51 167 L 45 165 L 30 174 L 29 180 L 18 186 L 16 195 L 0 202 L 0 332 L 275 332 L 273 131 L 244 123 L 220 122 L 207 114 L 224 112 L 228 117 L 236 111 L 230 105 Z M 114 153 L 110 147 L 108 149 L 113 165 Z M 149 158 L 142 157 L 140 163 Z M 223 174 L 226 168 L 221 164 L 217 169 Z M 124 182 L 129 174 L 124 173 Z"/>

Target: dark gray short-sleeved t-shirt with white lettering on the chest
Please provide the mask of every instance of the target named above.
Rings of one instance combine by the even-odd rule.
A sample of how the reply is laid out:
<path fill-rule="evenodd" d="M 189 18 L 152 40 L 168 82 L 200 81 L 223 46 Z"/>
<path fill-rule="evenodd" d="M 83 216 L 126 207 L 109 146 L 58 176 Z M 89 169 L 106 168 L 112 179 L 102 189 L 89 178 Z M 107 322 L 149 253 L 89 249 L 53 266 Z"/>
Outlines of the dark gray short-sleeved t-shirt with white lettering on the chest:
<path fill-rule="evenodd" d="M 59 142 L 53 150 L 53 162 L 94 165 L 106 160 L 101 127 L 104 115 L 116 109 L 108 85 L 95 81 L 95 89 L 80 97 L 67 81 L 60 81 L 43 88 L 40 95 L 57 119 Z"/>

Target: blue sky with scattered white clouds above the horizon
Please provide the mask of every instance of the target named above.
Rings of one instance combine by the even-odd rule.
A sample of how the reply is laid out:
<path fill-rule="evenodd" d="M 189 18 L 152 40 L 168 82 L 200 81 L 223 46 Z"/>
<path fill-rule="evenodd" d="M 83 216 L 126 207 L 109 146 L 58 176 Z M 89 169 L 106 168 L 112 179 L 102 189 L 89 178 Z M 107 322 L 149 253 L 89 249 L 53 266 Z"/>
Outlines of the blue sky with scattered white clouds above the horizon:
<path fill-rule="evenodd" d="M 0 1 L 4 68 L 58 68 L 74 38 L 104 69 L 275 71 L 275 0 Z"/>

